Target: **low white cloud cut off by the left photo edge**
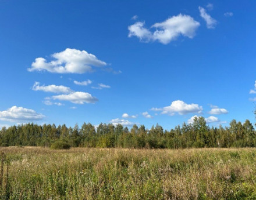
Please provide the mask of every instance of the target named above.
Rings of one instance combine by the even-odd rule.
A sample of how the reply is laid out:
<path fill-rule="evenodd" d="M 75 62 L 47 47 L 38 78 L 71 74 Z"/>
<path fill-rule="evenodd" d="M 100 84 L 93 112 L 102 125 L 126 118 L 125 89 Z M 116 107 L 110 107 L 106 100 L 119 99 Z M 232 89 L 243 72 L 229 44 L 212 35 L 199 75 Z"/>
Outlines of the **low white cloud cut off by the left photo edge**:
<path fill-rule="evenodd" d="M 37 121 L 44 117 L 44 115 L 37 113 L 32 109 L 17 106 L 8 108 L 5 111 L 0 111 L 0 119 L 2 121 Z"/>

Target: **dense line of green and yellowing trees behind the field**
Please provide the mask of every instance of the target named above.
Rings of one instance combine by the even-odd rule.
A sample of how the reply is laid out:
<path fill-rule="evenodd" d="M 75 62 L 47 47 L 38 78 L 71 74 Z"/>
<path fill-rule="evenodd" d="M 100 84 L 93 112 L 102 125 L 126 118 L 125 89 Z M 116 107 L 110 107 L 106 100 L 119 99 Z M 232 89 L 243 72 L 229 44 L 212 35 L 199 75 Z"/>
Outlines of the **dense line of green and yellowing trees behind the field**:
<path fill-rule="evenodd" d="M 123 148 L 190 148 L 190 147 L 256 147 L 256 132 L 252 123 L 233 119 L 229 127 L 209 127 L 203 117 L 193 123 L 183 123 L 175 129 L 163 130 L 158 124 L 151 129 L 134 125 L 130 130 L 122 125 L 101 123 L 96 129 L 91 123 L 81 128 L 66 125 L 26 125 L 5 127 L 0 131 L 1 146 L 50 147 L 56 141 L 65 141 L 72 147 Z"/>

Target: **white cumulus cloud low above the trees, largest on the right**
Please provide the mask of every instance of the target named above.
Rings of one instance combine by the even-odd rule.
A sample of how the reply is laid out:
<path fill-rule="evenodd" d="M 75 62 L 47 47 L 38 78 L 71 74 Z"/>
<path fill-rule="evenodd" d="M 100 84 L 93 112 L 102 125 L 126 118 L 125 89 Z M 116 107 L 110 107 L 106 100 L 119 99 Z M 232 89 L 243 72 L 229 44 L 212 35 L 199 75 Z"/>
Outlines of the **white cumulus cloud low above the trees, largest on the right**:
<path fill-rule="evenodd" d="M 163 108 L 151 108 L 152 111 L 162 111 L 162 114 L 175 115 L 175 113 L 179 115 L 184 115 L 188 113 L 201 113 L 202 106 L 198 104 L 187 104 L 184 101 L 176 100 L 172 101 L 170 106 L 166 106 Z"/>

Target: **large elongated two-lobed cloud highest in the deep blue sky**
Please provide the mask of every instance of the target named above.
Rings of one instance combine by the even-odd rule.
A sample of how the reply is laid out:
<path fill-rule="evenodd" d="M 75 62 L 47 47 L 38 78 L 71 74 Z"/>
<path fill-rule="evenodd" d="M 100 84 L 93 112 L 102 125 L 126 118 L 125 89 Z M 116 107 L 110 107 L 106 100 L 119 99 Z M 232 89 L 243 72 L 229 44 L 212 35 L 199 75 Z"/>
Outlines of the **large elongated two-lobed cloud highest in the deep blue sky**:
<path fill-rule="evenodd" d="M 172 16 L 161 23 L 155 23 L 151 26 L 151 28 L 155 28 L 155 31 L 151 31 L 144 26 L 145 23 L 141 21 L 129 26 L 128 36 L 136 36 L 143 42 L 158 41 L 166 45 L 180 35 L 193 38 L 195 36 L 195 31 L 200 26 L 200 23 L 195 21 L 193 17 L 189 15 L 178 14 L 177 16 Z"/>

